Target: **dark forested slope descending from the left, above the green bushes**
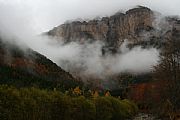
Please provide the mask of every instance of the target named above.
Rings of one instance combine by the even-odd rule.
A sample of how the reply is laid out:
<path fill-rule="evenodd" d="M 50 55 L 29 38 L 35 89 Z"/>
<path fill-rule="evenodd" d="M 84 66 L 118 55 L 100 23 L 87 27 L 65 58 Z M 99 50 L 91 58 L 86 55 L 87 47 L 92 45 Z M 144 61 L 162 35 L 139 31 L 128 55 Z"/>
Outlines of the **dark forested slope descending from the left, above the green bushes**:
<path fill-rule="evenodd" d="M 0 39 L 0 84 L 67 90 L 82 83 L 45 56 Z"/>

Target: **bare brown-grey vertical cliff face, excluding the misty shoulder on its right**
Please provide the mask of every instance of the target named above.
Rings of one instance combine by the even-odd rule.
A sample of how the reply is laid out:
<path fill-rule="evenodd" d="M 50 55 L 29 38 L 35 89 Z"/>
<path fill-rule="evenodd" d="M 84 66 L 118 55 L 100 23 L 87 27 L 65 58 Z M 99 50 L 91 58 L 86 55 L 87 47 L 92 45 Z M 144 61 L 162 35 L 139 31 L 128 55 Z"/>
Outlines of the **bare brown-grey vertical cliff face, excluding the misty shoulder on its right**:
<path fill-rule="evenodd" d="M 47 34 L 68 41 L 84 42 L 87 39 L 103 40 L 109 46 L 116 47 L 124 39 L 138 40 L 140 31 L 152 28 L 153 12 L 146 7 L 134 8 L 126 13 L 117 13 L 101 20 L 88 22 L 74 21 L 62 24 Z"/>

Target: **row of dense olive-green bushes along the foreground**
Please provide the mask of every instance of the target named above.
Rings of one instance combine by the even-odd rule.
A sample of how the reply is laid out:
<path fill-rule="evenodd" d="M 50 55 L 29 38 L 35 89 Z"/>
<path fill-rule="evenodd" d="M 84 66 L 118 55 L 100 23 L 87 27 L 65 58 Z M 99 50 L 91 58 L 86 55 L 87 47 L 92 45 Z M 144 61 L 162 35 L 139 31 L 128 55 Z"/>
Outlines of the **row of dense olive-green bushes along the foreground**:
<path fill-rule="evenodd" d="M 0 86 L 1 120 L 124 120 L 137 112 L 129 100 L 72 97 L 58 91 Z"/>

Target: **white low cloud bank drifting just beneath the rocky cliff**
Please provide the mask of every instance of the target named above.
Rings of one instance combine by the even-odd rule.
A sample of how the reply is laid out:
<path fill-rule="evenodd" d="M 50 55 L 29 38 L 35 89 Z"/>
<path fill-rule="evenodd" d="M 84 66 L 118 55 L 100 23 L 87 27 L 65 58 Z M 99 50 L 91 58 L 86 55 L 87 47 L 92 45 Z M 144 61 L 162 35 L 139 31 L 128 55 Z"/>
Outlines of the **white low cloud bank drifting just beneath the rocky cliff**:
<path fill-rule="evenodd" d="M 120 53 L 104 56 L 103 43 L 99 41 L 85 44 L 61 43 L 52 47 L 54 55 L 51 57 L 54 57 L 54 61 L 66 71 L 102 79 L 122 72 L 147 73 L 157 64 L 159 51 L 156 48 L 143 49 L 137 46 L 129 49 L 127 45 L 128 42 L 125 41 L 119 48 Z"/>

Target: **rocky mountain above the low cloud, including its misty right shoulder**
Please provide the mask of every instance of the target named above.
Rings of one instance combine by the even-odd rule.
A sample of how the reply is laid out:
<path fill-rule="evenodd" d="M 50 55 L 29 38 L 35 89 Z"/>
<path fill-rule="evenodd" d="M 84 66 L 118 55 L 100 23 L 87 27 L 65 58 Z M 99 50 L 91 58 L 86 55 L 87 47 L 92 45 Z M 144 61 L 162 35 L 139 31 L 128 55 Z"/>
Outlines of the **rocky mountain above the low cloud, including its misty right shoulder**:
<path fill-rule="evenodd" d="M 129 47 L 143 45 L 145 47 L 161 47 L 162 38 L 172 26 L 179 29 L 179 22 L 174 17 L 160 18 L 160 14 L 143 6 L 116 13 L 100 20 L 73 21 L 53 28 L 46 34 L 55 36 L 65 42 L 87 40 L 103 41 L 104 52 L 117 52 L 125 39 Z M 159 18 L 158 18 L 159 17 Z"/>

